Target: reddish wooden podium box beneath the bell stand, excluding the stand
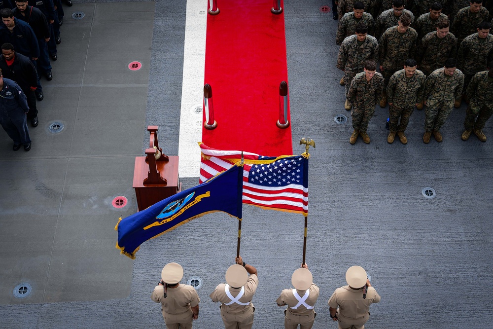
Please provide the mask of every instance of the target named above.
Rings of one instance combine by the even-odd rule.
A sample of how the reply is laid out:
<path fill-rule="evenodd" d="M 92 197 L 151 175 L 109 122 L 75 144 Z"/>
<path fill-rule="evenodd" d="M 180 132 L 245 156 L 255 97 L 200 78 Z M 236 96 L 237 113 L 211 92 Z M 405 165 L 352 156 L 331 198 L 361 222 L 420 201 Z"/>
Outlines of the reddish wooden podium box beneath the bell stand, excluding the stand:
<path fill-rule="evenodd" d="M 169 161 L 156 161 L 157 170 L 167 184 L 143 184 L 149 173 L 149 164 L 145 156 L 135 158 L 134 183 L 137 206 L 142 211 L 153 204 L 181 192 L 178 178 L 178 156 L 169 156 Z"/>

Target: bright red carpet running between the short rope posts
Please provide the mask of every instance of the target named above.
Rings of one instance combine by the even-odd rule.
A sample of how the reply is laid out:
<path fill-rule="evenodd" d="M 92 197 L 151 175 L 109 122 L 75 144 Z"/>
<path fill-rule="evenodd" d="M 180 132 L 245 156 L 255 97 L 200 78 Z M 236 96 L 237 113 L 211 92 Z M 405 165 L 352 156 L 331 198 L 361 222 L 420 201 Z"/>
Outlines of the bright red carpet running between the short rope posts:
<path fill-rule="evenodd" d="M 284 14 L 271 13 L 272 0 L 217 5 L 220 13 L 207 15 L 204 81 L 212 88 L 217 128 L 203 128 L 202 142 L 268 156 L 292 154 L 290 127 L 276 126 L 279 85 L 288 82 Z"/>

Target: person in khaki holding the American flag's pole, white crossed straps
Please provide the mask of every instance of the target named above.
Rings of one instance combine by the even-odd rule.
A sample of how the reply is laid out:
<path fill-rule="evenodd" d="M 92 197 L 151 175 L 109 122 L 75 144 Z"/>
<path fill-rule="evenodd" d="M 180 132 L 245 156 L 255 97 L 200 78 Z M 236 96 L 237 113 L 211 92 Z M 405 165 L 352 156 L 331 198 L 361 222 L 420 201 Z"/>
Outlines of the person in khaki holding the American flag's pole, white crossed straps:
<path fill-rule="evenodd" d="M 278 306 L 287 305 L 284 311 L 284 328 L 311 329 L 317 315 L 314 305 L 317 302 L 319 289 L 313 283 L 312 272 L 305 263 L 294 271 L 291 283 L 295 289 L 284 289 L 276 300 Z"/>

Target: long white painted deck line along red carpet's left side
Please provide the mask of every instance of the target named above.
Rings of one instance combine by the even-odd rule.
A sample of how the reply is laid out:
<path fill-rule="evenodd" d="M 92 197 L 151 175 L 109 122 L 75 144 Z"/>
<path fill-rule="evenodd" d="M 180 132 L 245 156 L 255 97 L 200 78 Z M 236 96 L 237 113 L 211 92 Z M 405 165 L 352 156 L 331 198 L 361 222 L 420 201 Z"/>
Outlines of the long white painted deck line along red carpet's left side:
<path fill-rule="evenodd" d="M 203 12 L 203 13 L 201 13 Z M 179 177 L 199 177 L 202 141 L 202 108 L 206 59 L 207 1 L 187 0 L 183 84 L 181 89 L 180 136 L 178 140 Z"/>

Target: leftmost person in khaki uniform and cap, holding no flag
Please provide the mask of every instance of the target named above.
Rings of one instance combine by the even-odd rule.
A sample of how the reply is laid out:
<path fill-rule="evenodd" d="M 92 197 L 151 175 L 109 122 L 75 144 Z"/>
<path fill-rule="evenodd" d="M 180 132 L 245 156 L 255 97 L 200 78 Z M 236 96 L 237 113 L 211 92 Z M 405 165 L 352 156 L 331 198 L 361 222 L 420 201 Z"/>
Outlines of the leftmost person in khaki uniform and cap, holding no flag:
<path fill-rule="evenodd" d="M 177 263 L 166 264 L 161 278 L 163 280 L 154 288 L 151 299 L 162 304 L 166 327 L 192 329 L 192 319 L 199 317 L 200 298 L 195 288 L 179 283 L 183 278 L 183 268 Z"/>

